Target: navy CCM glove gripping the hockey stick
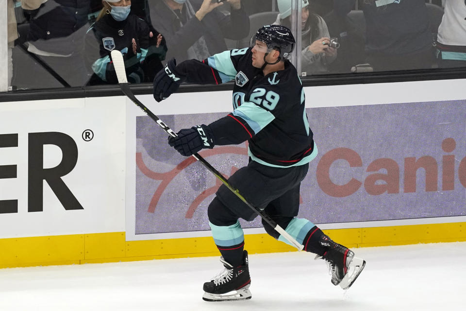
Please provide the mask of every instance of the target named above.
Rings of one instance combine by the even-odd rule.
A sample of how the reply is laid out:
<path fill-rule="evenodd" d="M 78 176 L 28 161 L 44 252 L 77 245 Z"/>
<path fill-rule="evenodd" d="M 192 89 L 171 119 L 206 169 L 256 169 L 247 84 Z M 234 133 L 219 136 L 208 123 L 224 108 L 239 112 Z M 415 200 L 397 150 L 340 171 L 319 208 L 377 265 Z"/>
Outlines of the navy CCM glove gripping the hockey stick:
<path fill-rule="evenodd" d="M 212 149 L 215 146 L 212 130 L 205 124 L 181 130 L 178 132 L 178 137 L 168 138 L 168 143 L 184 156 L 193 155 L 204 148 Z"/>

